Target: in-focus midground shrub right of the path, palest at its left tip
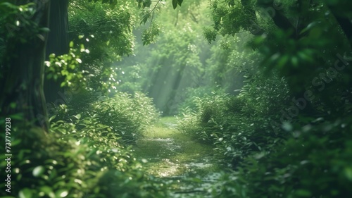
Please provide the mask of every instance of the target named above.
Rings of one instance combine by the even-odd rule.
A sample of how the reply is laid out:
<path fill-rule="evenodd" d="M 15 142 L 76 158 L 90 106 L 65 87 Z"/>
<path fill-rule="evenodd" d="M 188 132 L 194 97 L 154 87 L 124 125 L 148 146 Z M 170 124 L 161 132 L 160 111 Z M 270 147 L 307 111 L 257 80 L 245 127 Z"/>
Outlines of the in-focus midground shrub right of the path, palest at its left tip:
<path fill-rule="evenodd" d="M 178 129 L 217 146 L 234 168 L 246 156 L 270 151 L 284 140 L 285 133 L 271 123 L 279 122 L 289 91 L 284 79 L 265 81 L 260 75 L 247 76 L 238 96 L 205 95 L 195 98 L 196 111 L 185 109 Z M 280 105 L 275 101 L 283 101 Z"/>

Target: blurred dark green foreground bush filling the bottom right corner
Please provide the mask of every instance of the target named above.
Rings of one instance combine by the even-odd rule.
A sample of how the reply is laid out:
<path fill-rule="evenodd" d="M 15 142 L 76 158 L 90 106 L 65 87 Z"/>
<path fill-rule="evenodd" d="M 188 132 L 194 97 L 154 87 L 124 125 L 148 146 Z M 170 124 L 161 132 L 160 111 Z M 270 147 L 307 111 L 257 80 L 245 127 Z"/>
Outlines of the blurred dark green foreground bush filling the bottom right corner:
<path fill-rule="evenodd" d="M 275 148 L 224 174 L 217 197 L 348 197 L 352 194 L 352 117 L 292 130 Z"/>

